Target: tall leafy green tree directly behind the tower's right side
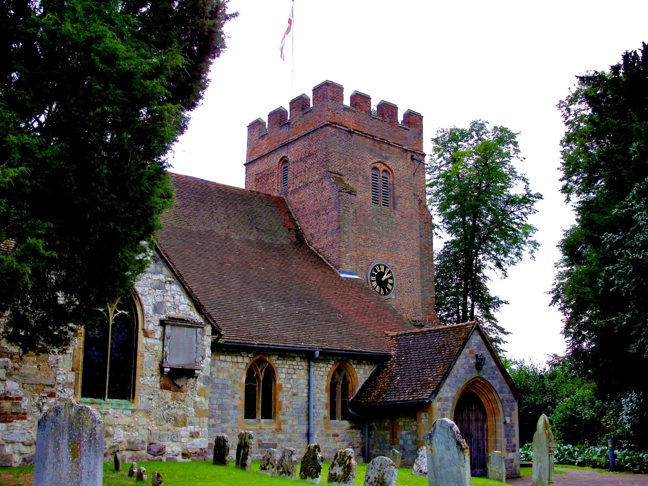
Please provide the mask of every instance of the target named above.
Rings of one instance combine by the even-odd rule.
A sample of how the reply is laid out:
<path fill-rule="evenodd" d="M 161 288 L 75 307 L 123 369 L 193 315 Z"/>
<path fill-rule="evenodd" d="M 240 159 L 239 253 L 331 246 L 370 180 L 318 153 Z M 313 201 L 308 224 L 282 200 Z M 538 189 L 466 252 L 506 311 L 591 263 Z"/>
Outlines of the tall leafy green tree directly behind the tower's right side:
<path fill-rule="evenodd" d="M 494 313 L 507 302 L 489 292 L 489 272 L 506 277 L 538 248 L 527 220 L 542 196 L 513 166 L 524 160 L 516 135 L 480 120 L 439 130 L 427 168 L 436 228 L 449 237 L 435 253 L 437 314 L 446 324 L 479 319 L 496 345 L 508 333 Z"/>

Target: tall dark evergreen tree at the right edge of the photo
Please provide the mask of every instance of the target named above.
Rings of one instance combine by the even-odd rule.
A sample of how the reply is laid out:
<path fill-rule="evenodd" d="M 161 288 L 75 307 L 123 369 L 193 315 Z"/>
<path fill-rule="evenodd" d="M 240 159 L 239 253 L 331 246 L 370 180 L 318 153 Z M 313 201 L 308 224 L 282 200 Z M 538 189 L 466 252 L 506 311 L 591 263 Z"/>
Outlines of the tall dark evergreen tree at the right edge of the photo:
<path fill-rule="evenodd" d="M 606 401 L 648 414 L 648 52 L 626 51 L 608 72 L 577 76 L 559 103 L 566 125 L 562 192 L 576 222 L 564 233 L 552 290 L 569 352 Z M 634 397 L 634 398 L 633 398 Z M 630 409 L 629 409 L 630 410 Z M 643 433 L 636 428 L 643 422 Z M 635 421 L 637 437 L 648 424 Z"/>

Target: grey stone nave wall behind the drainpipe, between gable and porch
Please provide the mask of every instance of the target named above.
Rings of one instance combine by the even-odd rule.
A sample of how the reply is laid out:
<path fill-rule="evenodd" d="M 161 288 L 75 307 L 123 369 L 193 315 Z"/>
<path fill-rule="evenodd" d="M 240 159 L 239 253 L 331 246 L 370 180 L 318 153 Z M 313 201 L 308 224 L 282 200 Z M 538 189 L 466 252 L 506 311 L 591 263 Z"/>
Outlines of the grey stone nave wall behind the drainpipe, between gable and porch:
<path fill-rule="evenodd" d="M 297 456 L 305 452 L 308 432 L 308 360 L 299 353 L 263 353 L 277 370 L 277 420 L 257 421 L 243 418 L 244 370 L 260 354 L 237 349 L 216 349 L 211 362 L 211 396 L 209 400 L 209 437 L 229 436 L 230 443 L 240 430 L 255 434 L 253 459 L 262 457 L 268 448 L 294 447 Z M 364 425 L 328 420 L 327 379 L 330 369 L 342 356 L 320 356 L 315 362 L 314 441 L 330 461 L 336 450 L 353 448 L 362 456 Z M 345 358 L 358 377 L 358 387 L 373 371 L 375 364 L 362 359 Z"/>

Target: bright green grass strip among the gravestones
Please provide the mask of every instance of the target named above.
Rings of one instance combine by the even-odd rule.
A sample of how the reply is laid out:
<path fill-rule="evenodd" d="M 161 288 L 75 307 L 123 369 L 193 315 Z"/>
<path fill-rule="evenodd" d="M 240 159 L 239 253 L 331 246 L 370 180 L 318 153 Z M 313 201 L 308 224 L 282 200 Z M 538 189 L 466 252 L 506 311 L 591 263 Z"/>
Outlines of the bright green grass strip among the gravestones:
<path fill-rule="evenodd" d="M 138 466 L 146 468 L 148 474 L 147 483 L 150 484 L 150 477 L 153 471 L 162 474 L 165 486 L 287 486 L 294 484 L 294 481 L 281 478 L 269 478 L 259 474 L 260 461 L 253 461 L 250 471 L 235 468 L 233 465 L 214 466 L 209 461 L 194 461 L 186 463 L 176 462 L 152 462 L 137 463 Z M 324 463 L 322 471 L 322 484 L 325 484 L 327 471 L 330 463 Z M 122 465 L 124 471 L 115 472 L 112 463 L 104 464 L 104 485 L 105 486 L 133 486 L 133 478 L 126 476 L 126 463 Z M 356 469 L 355 486 L 362 486 L 364 482 L 367 463 L 359 463 Z M 297 465 L 297 477 L 299 477 L 299 465 Z M 397 486 L 428 486 L 428 478 L 421 478 L 411 474 L 411 469 L 399 468 Z M 472 478 L 474 486 L 501 485 L 499 481 L 487 480 L 484 478 Z"/>

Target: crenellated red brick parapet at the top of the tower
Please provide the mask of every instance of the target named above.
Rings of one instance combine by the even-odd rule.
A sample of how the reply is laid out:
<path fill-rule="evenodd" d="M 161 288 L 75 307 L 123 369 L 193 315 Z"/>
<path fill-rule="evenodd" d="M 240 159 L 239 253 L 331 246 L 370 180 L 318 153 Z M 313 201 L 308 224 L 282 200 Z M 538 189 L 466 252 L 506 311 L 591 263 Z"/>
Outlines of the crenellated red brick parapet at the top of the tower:
<path fill-rule="evenodd" d="M 252 161 L 287 141 L 323 126 L 338 125 L 388 143 L 403 146 L 413 152 L 423 150 L 423 117 L 421 113 L 407 110 L 399 123 L 399 108 L 393 103 L 380 101 L 376 115 L 371 113 L 371 97 L 354 91 L 351 106 L 343 104 L 343 87 L 325 81 L 313 88 L 313 105 L 307 95 L 290 100 L 290 118 L 283 106 L 268 113 L 268 126 L 262 119 L 248 125 L 248 153 Z"/>

